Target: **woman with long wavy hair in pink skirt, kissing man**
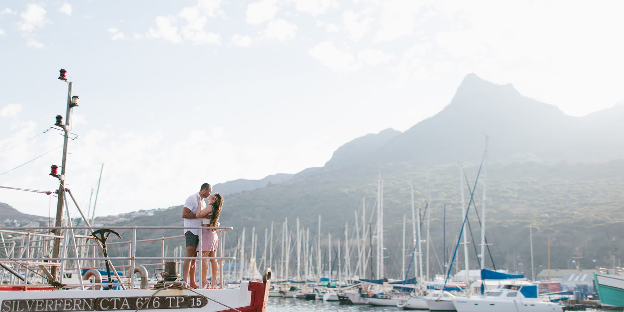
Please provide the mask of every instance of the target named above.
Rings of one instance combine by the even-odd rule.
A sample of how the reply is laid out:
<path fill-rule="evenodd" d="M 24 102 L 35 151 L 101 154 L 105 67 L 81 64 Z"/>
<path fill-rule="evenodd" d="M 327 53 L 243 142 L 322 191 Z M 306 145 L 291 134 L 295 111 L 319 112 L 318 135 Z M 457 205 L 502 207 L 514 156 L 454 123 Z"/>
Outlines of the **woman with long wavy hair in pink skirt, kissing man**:
<path fill-rule="evenodd" d="M 198 207 L 202 207 L 202 198 L 197 198 Z M 223 196 L 220 193 L 214 193 L 208 197 L 208 206 L 203 209 L 197 209 L 195 217 L 202 218 L 202 227 L 218 227 L 219 215 L 221 214 L 221 207 L 223 206 Z M 217 248 L 219 245 L 219 236 L 216 229 L 203 229 L 202 230 L 202 246 L 197 246 L 197 251 L 202 251 L 202 256 L 217 256 Z M 208 260 L 203 260 L 202 270 L 202 286 L 205 288 L 208 285 L 206 280 L 206 274 L 208 271 Z M 217 280 L 217 260 L 210 260 L 210 267 L 212 268 L 212 287 L 217 288 L 219 280 Z"/>

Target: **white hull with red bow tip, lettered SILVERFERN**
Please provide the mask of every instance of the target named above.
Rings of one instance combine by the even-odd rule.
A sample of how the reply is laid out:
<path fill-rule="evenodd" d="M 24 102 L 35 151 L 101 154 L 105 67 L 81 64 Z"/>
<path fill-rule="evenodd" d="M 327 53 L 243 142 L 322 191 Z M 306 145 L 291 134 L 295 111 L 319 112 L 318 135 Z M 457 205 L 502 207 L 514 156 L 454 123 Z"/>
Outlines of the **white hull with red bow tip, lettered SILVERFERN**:
<path fill-rule="evenodd" d="M 3 290 L 0 288 L 0 290 Z M 241 288 L 190 290 L 0 291 L 2 312 L 42 311 L 266 311 L 266 283 L 243 281 Z M 208 298 L 213 300 L 208 300 Z"/>

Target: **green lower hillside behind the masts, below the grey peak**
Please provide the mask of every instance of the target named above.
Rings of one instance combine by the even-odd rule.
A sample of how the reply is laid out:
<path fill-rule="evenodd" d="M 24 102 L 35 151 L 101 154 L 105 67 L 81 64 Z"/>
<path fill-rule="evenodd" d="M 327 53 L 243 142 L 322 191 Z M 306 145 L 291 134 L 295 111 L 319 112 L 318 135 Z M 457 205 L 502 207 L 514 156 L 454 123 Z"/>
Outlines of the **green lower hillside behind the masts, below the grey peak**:
<path fill-rule="evenodd" d="M 476 165 L 465 166 L 470 187 L 474 183 L 477 170 Z M 617 261 L 622 261 L 624 250 L 622 172 L 624 160 L 572 164 L 565 162 L 490 164 L 487 168 L 488 200 L 485 221 L 487 240 L 493 244 L 490 249 L 496 268 L 530 273 L 529 226 L 534 227 L 536 270 L 540 265 L 544 267 L 547 265 L 549 235 L 553 268 L 567 268 L 575 248 L 583 255 L 580 260 L 583 268 L 609 265 L 612 262 L 614 247 L 617 248 L 615 250 Z M 324 243 L 327 242 L 327 233 L 330 232 L 333 240 L 340 240 L 344 224 L 348 223 L 349 239 L 352 246 L 355 246 L 354 211 L 361 208 L 362 197 L 366 197 L 367 211 L 371 212 L 376 196 L 377 175 L 377 170 L 350 168 L 296 178 L 287 183 L 229 195 L 225 198 L 221 223 L 224 226 L 235 227 L 236 231 L 228 232 L 225 241 L 228 245 L 235 245 L 236 237 L 240 235 L 242 228 L 246 228 L 246 241 L 250 242 L 251 227 L 255 227 L 259 239 L 263 240 L 264 229 L 270 227 L 271 222 L 275 222 L 274 232 L 277 237 L 285 218 L 288 218 L 291 233 L 296 232 L 297 217 L 300 218 L 301 227 L 309 227 L 310 233 L 314 233 L 318 215 L 321 215 Z M 449 250 L 447 252 L 452 252 L 452 246 L 461 227 L 458 176 L 457 165 L 417 168 L 403 163 L 381 168 L 381 177 L 384 181 L 385 246 L 386 256 L 389 256 L 386 259 L 388 276 L 397 276 L 401 270 L 403 215 L 406 215 L 408 220 L 411 218 L 410 183 L 414 186 L 416 207 L 425 207 L 427 193 L 431 191 L 431 270 L 434 273 L 441 271 L 439 259 L 443 253 L 442 211 L 445 204 Z M 480 182 L 474 196 L 479 213 Z M 468 202 L 467 187 L 465 192 Z M 153 217 L 143 217 L 125 224 L 182 225 L 181 208 L 172 207 L 158 212 Z M 479 241 L 480 227 L 474 207 L 471 207 L 469 222 L 475 240 Z M 376 220 L 373 219 L 373 227 L 375 223 Z M 407 228 L 411 229 L 411 225 L 407 225 Z M 162 230 L 162 236 L 176 235 L 178 232 L 179 230 Z M 159 233 L 158 236 L 160 235 Z M 408 235 L 411 235 L 411 230 L 408 230 Z M 406 240 L 408 244 L 411 241 L 409 238 L 411 236 Z M 471 238 L 469 240 L 472 241 Z M 182 245 L 182 240 L 177 243 Z M 274 245 L 279 250 L 280 244 Z M 258 255 L 261 255 L 262 248 L 261 245 Z M 411 250 L 411 247 L 409 249 Z M 145 252 L 145 255 L 159 253 L 160 245 L 139 246 L 139 250 Z M 434 255 L 434 252 L 437 255 Z M 470 245 L 471 267 L 477 268 L 474 255 L 474 246 Z M 463 256 L 458 255 L 458 258 L 463 259 Z M 486 263 L 488 267 L 492 267 L 489 260 Z M 293 264 L 290 267 L 293 268 Z"/>

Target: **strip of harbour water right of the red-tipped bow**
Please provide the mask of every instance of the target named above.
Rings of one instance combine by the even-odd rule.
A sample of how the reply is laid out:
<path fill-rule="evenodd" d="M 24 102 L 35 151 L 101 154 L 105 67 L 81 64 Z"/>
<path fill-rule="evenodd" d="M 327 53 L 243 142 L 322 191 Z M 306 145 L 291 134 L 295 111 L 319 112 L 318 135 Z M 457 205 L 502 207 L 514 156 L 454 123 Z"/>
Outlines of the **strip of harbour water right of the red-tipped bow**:
<path fill-rule="evenodd" d="M 269 297 L 266 312 L 384 312 L 384 311 L 422 311 L 403 310 L 396 306 L 340 305 L 338 301 L 305 300 L 295 298 Z M 588 309 L 588 312 L 606 312 Z"/>

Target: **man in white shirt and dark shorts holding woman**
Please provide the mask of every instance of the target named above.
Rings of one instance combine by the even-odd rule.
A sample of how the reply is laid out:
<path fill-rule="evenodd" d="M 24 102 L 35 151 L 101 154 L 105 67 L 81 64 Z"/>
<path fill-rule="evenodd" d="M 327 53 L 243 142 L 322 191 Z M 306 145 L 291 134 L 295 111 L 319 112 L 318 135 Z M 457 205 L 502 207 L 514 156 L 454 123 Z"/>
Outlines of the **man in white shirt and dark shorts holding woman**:
<path fill-rule="evenodd" d="M 197 212 L 197 208 L 201 205 L 200 209 L 206 208 L 206 203 L 203 201 L 204 198 L 208 198 L 212 193 L 212 186 L 208 183 L 203 183 L 199 192 L 190 195 L 187 198 L 187 202 L 184 203 L 184 207 L 182 208 L 182 219 L 184 220 L 184 236 L 186 239 L 187 245 L 187 257 L 197 256 L 197 243 L 199 242 L 200 233 L 197 230 L 197 227 L 202 226 L 202 218 L 196 218 L 195 212 Z M 197 203 L 197 198 L 202 198 L 201 204 Z M 199 288 L 197 283 L 195 283 L 195 260 L 184 260 L 183 270 L 183 279 L 187 282 L 188 286 L 191 288 Z M 190 278 L 189 278 L 190 277 Z"/>

